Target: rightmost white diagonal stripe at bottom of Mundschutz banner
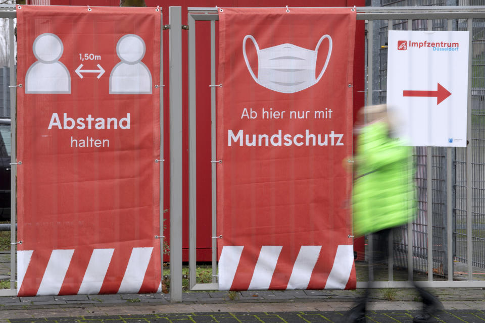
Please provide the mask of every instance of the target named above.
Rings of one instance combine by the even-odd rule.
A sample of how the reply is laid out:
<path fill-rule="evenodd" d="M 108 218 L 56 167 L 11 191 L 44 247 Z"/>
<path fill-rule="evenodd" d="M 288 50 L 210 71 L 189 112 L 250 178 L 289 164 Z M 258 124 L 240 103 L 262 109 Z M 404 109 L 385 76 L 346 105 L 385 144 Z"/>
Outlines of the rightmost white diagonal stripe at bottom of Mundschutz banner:
<path fill-rule="evenodd" d="M 325 289 L 345 289 L 354 264 L 354 246 L 341 244 L 333 260 L 332 270 L 328 275 Z"/>

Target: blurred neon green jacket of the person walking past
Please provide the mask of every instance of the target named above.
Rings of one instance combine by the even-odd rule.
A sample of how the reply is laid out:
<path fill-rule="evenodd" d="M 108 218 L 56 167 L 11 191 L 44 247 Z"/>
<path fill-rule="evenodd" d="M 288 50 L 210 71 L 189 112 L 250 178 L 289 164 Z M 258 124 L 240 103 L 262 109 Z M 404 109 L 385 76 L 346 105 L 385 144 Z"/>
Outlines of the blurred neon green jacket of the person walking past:
<path fill-rule="evenodd" d="M 355 236 L 403 225 L 416 210 L 412 148 L 390 138 L 388 129 L 377 121 L 357 138 Z"/>

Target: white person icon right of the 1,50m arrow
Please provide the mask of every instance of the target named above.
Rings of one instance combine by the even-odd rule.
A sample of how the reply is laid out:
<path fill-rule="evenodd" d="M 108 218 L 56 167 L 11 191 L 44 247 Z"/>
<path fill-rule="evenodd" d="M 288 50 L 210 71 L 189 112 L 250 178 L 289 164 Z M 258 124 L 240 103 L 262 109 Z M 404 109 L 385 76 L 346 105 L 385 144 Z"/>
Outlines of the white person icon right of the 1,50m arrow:
<path fill-rule="evenodd" d="M 141 62 L 145 50 L 138 35 L 126 34 L 118 40 L 116 53 L 121 62 L 111 71 L 110 94 L 152 94 L 152 74 Z"/>

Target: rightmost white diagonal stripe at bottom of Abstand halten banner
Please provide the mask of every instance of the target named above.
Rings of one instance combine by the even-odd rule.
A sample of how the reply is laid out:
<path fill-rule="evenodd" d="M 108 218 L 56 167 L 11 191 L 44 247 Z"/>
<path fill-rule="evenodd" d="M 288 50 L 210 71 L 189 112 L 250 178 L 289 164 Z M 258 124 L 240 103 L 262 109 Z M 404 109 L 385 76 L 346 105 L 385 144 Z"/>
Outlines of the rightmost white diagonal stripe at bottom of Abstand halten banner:
<path fill-rule="evenodd" d="M 138 293 L 143 284 L 153 247 L 133 248 L 118 294 Z"/>

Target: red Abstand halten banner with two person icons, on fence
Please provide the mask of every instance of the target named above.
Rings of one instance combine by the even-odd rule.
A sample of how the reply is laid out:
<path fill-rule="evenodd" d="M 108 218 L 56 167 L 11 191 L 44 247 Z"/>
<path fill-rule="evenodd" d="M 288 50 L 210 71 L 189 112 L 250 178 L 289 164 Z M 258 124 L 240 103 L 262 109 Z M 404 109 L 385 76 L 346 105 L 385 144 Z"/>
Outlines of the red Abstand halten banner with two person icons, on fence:
<path fill-rule="evenodd" d="M 160 12 L 17 17 L 18 295 L 156 292 Z"/>

